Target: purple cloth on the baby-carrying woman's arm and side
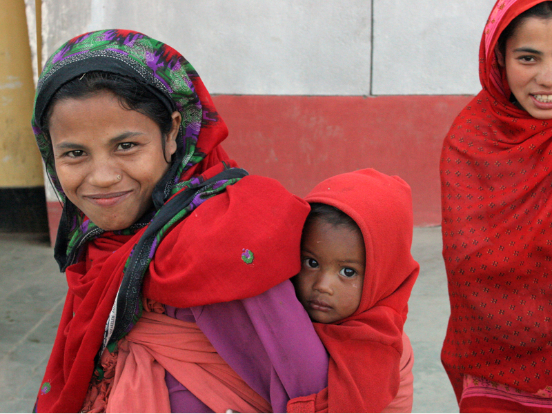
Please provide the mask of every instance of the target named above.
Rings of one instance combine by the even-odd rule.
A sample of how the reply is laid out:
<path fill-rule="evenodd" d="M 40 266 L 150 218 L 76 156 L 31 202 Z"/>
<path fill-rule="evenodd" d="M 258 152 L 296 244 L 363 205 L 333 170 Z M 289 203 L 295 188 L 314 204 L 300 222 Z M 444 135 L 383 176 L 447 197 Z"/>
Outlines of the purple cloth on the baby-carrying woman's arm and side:
<path fill-rule="evenodd" d="M 219 355 L 275 413 L 285 413 L 291 398 L 328 386 L 328 354 L 288 280 L 248 299 L 165 308 L 170 317 L 196 322 Z M 166 381 L 173 413 L 213 412 L 170 373 Z M 197 402 L 204 410 L 198 410 Z"/>

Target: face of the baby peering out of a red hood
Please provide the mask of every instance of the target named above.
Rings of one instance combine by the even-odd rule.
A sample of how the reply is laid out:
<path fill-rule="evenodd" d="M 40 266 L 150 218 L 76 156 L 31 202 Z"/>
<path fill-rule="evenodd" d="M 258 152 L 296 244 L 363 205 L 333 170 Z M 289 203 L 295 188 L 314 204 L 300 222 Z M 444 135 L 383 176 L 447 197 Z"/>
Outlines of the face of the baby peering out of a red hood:
<path fill-rule="evenodd" d="M 295 291 L 311 319 L 331 324 L 353 315 L 362 297 L 366 267 L 359 230 L 314 219 L 304 229 L 301 257 Z"/>

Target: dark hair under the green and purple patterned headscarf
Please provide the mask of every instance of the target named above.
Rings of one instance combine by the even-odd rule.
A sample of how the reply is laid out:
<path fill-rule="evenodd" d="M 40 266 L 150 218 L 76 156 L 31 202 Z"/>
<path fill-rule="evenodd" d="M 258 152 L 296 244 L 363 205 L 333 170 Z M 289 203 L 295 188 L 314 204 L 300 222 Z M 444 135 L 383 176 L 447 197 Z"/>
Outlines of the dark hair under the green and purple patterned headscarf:
<path fill-rule="evenodd" d="M 142 83 L 132 77 L 119 75 L 112 72 L 96 70 L 86 72 L 80 77 L 75 77 L 63 83 L 50 99 L 42 119 L 37 120 L 41 130 L 50 138 L 50 117 L 55 104 L 65 99 L 83 99 L 99 92 L 112 92 L 119 99 L 121 108 L 135 110 L 146 115 L 159 126 L 161 136 L 164 137 L 172 128 L 172 112 L 159 97 L 150 90 L 146 83 Z M 50 145 L 51 145 L 51 139 Z M 162 140 L 165 149 L 165 140 Z M 50 158 L 52 151 L 50 151 Z M 47 164 L 54 165 L 53 159 L 46 160 Z"/>

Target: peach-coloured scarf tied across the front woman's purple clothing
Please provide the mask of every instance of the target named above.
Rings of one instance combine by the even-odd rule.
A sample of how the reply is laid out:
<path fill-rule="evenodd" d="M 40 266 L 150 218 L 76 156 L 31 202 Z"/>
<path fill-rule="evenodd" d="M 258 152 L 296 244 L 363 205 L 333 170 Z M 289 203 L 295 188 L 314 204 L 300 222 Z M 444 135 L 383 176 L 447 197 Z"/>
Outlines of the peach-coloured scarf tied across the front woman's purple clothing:
<path fill-rule="evenodd" d="M 193 322 L 144 311 L 118 348 L 108 413 L 170 413 L 165 371 L 215 413 L 272 412 Z"/>

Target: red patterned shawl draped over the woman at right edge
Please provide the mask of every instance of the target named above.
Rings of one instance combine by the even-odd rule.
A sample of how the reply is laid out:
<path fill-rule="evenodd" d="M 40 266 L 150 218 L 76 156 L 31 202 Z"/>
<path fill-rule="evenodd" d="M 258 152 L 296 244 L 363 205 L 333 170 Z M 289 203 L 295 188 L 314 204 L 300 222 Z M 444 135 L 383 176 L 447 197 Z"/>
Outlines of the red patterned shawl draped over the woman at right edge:
<path fill-rule="evenodd" d="M 502 30 L 540 2 L 497 1 L 480 46 L 483 90 L 444 140 L 441 357 L 459 400 L 464 373 L 531 393 L 552 385 L 552 120 L 510 103 L 495 57 Z"/>

